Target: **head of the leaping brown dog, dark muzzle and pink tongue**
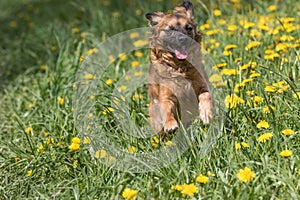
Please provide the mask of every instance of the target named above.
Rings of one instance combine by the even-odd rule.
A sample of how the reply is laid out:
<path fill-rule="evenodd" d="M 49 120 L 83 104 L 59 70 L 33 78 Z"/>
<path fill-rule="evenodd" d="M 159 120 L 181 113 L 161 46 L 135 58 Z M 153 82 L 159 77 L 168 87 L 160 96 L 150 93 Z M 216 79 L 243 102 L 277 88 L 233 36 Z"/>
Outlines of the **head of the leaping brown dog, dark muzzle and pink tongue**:
<path fill-rule="evenodd" d="M 170 52 L 178 60 L 185 60 L 193 40 L 200 42 L 201 36 L 196 30 L 193 5 L 184 1 L 174 8 L 173 14 L 152 12 L 146 14 L 152 27 L 151 48 L 160 48 Z"/>

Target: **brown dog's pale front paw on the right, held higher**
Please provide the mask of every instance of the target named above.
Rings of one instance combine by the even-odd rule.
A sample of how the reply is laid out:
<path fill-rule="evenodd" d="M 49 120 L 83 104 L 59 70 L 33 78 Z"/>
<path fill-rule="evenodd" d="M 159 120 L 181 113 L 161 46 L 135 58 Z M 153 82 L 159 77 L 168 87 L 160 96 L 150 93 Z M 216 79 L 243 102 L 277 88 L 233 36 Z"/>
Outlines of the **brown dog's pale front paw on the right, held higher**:
<path fill-rule="evenodd" d="M 212 99 L 208 92 L 199 95 L 199 117 L 203 124 L 209 124 L 213 116 Z"/>

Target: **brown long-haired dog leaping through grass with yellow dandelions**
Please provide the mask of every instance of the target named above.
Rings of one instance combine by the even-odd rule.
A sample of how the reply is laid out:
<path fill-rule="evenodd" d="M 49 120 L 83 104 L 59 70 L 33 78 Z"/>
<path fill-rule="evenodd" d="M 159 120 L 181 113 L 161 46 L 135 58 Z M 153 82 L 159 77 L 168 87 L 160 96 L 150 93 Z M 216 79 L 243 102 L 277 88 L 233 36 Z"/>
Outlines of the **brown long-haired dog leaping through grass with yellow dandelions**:
<path fill-rule="evenodd" d="M 201 55 L 201 34 L 189 1 L 172 14 L 147 13 L 151 27 L 148 72 L 150 123 L 160 135 L 174 133 L 180 122 L 199 115 L 203 124 L 213 116 L 212 95 Z"/>

